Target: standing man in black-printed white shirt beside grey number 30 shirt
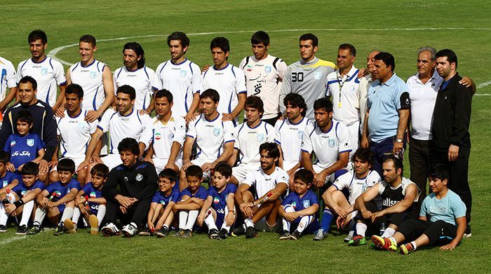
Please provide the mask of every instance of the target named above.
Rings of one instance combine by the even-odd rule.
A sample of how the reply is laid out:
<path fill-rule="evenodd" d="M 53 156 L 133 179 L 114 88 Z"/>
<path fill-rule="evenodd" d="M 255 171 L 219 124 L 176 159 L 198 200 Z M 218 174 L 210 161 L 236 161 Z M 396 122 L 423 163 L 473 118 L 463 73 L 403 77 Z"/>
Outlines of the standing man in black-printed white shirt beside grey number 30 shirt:
<path fill-rule="evenodd" d="M 279 116 L 279 96 L 286 63 L 278 57 L 268 54 L 269 35 L 266 32 L 256 32 L 250 39 L 253 46 L 253 56 L 245 57 L 238 65 L 245 74 L 247 96 L 261 98 L 264 103 L 262 120 L 274 125 Z"/>

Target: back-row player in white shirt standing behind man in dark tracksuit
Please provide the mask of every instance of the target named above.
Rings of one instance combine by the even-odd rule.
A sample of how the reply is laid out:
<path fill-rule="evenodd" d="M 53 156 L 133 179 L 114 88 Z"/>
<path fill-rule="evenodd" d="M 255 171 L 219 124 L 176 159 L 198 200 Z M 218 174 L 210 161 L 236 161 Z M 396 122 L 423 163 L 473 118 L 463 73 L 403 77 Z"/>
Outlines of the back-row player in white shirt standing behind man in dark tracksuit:
<path fill-rule="evenodd" d="M 32 31 L 27 38 L 27 43 L 32 57 L 19 63 L 18 80 L 24 76 L 36 79 L 37 99 L 49 104 L 53 111 L 56 111 L 63 102 L 67 84 L 63 65 L 44 53 L 48 47 L 48 37 L 41 29 Z M 58 87 L 60 87 L 60 95 L 58 95 Z"/>

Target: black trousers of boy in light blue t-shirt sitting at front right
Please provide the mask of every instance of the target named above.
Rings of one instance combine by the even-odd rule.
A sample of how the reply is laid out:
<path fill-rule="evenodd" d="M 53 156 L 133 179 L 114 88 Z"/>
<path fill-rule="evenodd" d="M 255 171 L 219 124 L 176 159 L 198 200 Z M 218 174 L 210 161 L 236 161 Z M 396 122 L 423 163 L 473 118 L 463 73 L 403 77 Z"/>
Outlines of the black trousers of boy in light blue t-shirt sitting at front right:
<path fill-rule="evenodd" d="M 429 239 L 429 245 L 436 242 L 451 242 L 457 236 L 457 226 L 448 224 L 446 221 L 423 221 L 409 219 L 399 228 L 398 232 L 404 235 L 405 240 L 416 240 L 421 235 L 426 235 Z"/>

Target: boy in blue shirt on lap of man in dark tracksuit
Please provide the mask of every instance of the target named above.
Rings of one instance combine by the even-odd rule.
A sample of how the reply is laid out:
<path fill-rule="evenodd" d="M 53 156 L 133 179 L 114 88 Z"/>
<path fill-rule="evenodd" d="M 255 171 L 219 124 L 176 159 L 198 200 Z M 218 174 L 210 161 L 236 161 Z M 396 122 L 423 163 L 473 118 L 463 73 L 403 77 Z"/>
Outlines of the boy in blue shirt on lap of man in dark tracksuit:
<path fill-rule="evenodd" d="M 39 163 L 44 156 L 44 143 L 34 133 L 30 133 L 34 118 L 29 111 L 19 111 L 15 123 L 19 134 L 11 134 L 5 142 L 4 151 L 11 155 L 7 170 L 22 170 L 27 162 Z"/>

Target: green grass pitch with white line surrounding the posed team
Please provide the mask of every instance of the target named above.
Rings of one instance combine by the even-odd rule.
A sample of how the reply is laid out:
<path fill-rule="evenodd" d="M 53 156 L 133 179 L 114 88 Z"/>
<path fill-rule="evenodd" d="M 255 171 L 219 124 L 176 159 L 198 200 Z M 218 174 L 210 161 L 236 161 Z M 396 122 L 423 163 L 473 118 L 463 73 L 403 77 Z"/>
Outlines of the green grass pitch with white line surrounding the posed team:
<path fill-rule="evenodd" d="M 117 3 L 117 4 L 116 4 Z M 166 35 L 189 34 L 187 57 L 199 64 L 212 62 L 209 42 L 226 36 L 229 62 L 250 55 L 250 36 L 269 32 L 269 53 L 288 64 L 299 58 L 298 37 L 312 32 L 319 38 L 318 57 L 335 62 L 337 46 L 351 43 L 358 50 L 356 67 L 365 66 L 373 49 L 396 57 L 396 73 L 416 72 L 417 48 L 452 48 L 459 73 L 478 85 L 471 118 L 472 150 L 469 181 L 473 191 L 473 236 L 452 252 L 422 249 L 409 256 L 347 247 L 343 235 L 323 242 L 304 237 L 280 242 L 276 234 L 260 233 L 253 240 L 229 238 L 218 242 L 205 235 L 180 238 L 103 238 L 79 231 L 54 237 L 46 231 L 31 237 L 0 234 L 0 273 L 53 271 L 88 273 L 208 272 L 217 273 L 477 273 L 489 270 L 489 202 L 491 178 L 488 149 L 491 130 L 491 1 L 2 1 L 0 55 L 18 62 L 30 56 L 27 35 L 33 29 L 48 34 L 48 51 L 78 42 L 82 34 L 97 39 L 98 60 L 112 70 L 122 66 L 121 50 L 128 41 L 142 44 L 147 66 L 168 60 Z M 127 39 L 120 39 L 128 37 Z M 105 40 L 105 41 L 103 41 Z M 79 60 L 78 49 L 60 50 L 58 58 Z M 67 66 L 65 66 L 67 68 Z M 407 160 L 406 160 L 407 163 Z M 405 172 L 409 175 L 409 169 Z"/>

